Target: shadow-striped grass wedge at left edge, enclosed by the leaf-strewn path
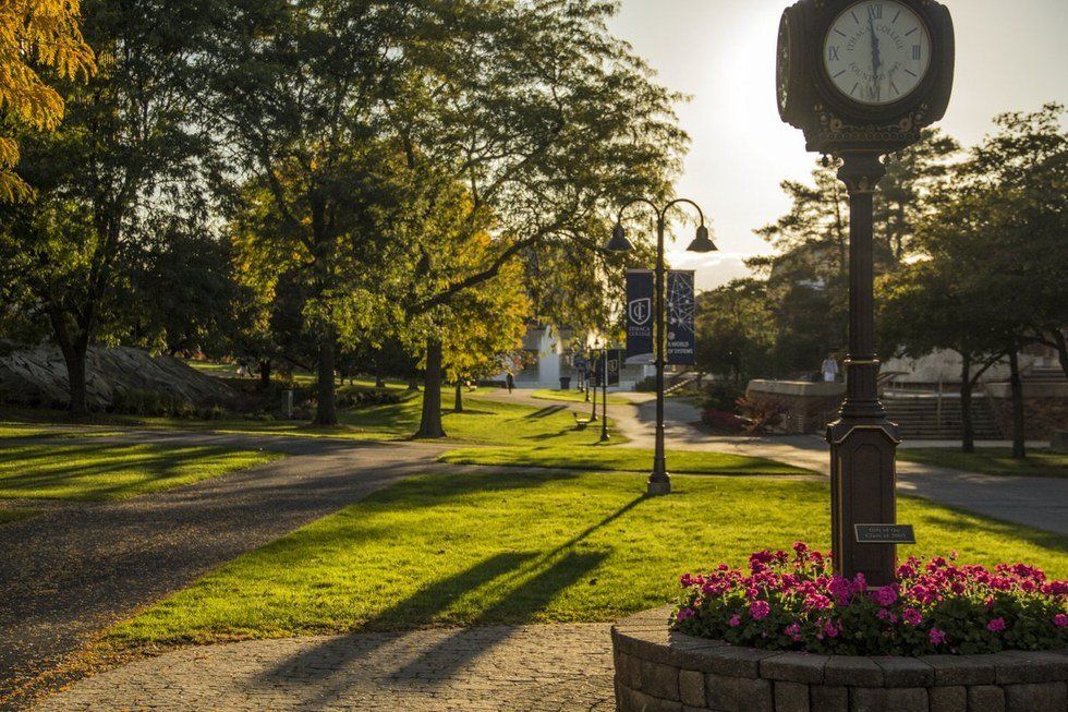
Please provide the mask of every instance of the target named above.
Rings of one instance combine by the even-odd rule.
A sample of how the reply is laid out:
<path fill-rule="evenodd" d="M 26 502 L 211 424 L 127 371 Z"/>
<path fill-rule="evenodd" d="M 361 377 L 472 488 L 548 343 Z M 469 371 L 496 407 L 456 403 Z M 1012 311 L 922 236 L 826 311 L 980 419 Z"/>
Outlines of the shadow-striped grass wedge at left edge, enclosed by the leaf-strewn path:
<path fill-rule="evenodd" d="M 0 450 L 0 497 L 124 499 L 278 459 L 220 447 L 62 444 Z"/>

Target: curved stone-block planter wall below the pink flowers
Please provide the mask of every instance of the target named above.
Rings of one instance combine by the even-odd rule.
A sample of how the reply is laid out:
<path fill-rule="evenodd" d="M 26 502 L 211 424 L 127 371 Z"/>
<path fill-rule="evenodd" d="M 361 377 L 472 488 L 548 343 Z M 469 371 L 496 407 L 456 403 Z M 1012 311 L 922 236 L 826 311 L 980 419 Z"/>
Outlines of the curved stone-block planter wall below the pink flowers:
<path fill-rule="evenodd" d="M 618 712 L 1068 710 L 1068 651 L 815 655 L 673 632 L 669 614 L 657 608 L 612 627 Z"/>

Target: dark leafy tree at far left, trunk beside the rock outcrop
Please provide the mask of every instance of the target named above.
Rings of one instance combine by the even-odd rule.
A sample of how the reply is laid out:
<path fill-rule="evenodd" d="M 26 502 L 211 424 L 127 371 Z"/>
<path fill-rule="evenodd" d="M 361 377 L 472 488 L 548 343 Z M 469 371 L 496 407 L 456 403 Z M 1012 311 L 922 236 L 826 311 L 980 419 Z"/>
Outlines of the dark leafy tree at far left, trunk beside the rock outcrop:
<path fill-rule="evenodd" d="M 65 87 L 58 131 L 23 141 L 21 169 L 36 200 L 4 214 L 0 268 L 26 285 L 27 307 L 50 324 L 74 414 L 86 411 L 88 346 L 114 324 L 136 245 L 165 214 L 204 217 L 196 189 L 206 143 L 189 123 L 185 74 L 197 22 L 177 0 L 87 2 L 98 72 Z"/>

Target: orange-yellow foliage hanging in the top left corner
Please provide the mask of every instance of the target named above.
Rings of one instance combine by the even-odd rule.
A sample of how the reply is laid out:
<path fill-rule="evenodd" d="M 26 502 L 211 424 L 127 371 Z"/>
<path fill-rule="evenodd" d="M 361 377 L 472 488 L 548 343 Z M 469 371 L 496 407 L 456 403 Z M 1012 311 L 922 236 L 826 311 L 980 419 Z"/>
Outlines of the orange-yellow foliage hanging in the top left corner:
<path fill-rule="evenodd" d="M 88 80 L 93 50 L 78 29 L 78 0 L 0 0 L 0 112 L 16 128 L 53 131 L 63 119 L 63 98 L 40 71 L 61 80 Z M 13 171 L 19 144 L 0 135 L 0 201 L 26 197 Z"/>

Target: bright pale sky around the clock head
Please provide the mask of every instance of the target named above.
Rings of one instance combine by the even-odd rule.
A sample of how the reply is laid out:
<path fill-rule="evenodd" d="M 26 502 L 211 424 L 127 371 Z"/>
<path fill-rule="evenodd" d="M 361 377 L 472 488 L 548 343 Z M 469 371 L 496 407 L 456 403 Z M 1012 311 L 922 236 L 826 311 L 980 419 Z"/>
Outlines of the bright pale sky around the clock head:
<path fill-rule="evenodd" d="M 957 72 L 938 124 L 966 146 L 994 116 L 1068 104 L 1068 0 L 943 0 L 952 13 Z M 691 101 L 678 107 L 692 145 L 676 183 L 713 218 L 718 253 L 685 252 L 679 230 L 671 266 L 696 269 L 699 289 L 747 274 L 745 257 L 769 245 L 753 230 L 789 209 L 784 179 L 804 180 L 818 158 L 775 104 L 775 47 L 787 0 L 621 0 L 610 29 Z"/>

